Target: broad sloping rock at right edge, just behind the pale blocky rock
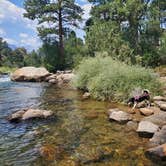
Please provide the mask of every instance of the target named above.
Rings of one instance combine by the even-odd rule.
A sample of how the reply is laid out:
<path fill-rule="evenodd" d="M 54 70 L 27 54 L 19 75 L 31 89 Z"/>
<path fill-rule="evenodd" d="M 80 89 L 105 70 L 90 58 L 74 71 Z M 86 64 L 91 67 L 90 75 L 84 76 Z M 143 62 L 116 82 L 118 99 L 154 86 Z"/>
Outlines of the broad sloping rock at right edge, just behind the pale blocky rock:
<path fill-rule="evenodd" d="M 162 127 L 163 125 L 166 125 L 166 112 L 160 111 L 159 113 L 145 117 L 142 120 L 152 122 Z"/>

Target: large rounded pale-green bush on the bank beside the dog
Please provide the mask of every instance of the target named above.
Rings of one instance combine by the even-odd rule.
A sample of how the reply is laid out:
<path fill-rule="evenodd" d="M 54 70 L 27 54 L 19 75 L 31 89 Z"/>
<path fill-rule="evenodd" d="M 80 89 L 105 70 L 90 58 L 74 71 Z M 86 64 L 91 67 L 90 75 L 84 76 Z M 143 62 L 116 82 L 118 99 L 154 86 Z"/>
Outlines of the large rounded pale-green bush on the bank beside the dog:
<path fill-rule="evenodd" d="M 139 66 L 129 66 L 110 57 L 83 60 L 76 70 L 74 85 L 87 89 L 95 99 L 124 101 L 135 88 L 159 94 L 156 74 Z"/>

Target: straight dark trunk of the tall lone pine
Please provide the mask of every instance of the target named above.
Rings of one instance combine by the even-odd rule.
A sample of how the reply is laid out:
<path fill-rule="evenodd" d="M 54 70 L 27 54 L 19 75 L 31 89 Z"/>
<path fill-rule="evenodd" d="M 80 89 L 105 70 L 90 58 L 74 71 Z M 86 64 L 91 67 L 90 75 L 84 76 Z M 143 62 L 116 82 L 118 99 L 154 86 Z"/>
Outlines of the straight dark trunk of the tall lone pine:
<path fill-rule="evenodd" d="M 60 2 L 61 3 L 61 2 Z M 59 61 L 60 61 L 60 69 L 64 67 L 64 45 L 63 45 L 63 25 L 62 25 L 62 9 L 61 4 L 59 8 Z"/>

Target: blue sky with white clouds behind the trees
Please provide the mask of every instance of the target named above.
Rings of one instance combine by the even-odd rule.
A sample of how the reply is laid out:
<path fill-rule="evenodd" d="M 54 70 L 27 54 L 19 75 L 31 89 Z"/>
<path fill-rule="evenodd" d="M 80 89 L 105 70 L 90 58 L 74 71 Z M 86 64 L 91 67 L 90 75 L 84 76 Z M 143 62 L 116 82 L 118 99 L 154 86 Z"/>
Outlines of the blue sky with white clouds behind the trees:
<path fill-rule="evenodd" d="M 0 0 L 0 37 L 10 45 L 25 47 L 28 50 L 37 49 L 42 42 L 37 35 L 37 21 L 23 17 L 24 0 Z M 84 10 L 83 23 L 89 18 L 91 4 L 87 0 L 76 0 Z M 81 29 L 74 29 L 80 38 L 84 38 L 85 32 Z"/>

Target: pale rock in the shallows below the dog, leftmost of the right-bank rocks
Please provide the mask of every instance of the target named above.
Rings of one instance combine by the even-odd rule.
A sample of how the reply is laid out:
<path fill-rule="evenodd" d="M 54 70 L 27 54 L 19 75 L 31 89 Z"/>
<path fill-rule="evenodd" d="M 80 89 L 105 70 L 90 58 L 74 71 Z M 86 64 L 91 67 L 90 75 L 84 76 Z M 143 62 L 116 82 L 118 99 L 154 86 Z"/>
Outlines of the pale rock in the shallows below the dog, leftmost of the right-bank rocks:
<path fill-rule="evenodd" d="M 125 123 L 132 120 L 132 116 L 129 113 L 121 111 L 119 109 L 110 109 L 109 119 L 117 121 L 119 123 Z"/>

